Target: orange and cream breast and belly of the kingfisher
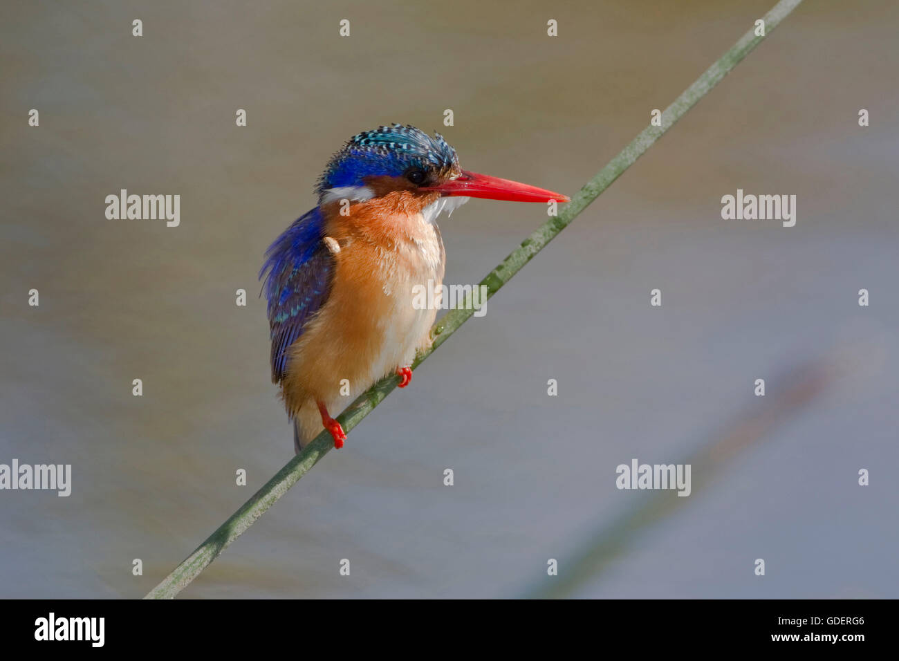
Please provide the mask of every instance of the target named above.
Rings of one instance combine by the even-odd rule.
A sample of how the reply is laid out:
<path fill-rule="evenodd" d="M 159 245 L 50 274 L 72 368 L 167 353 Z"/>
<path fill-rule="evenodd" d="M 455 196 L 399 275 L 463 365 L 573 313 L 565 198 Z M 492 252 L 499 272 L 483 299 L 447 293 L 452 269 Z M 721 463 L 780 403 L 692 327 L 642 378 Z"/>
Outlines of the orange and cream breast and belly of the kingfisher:
<path fill-rule="evenodd" d="M 350 216 L 334 215 L 326 224 L 325 233 L 340 246 L 331 292 L 288 350 L 281 389 L 304 442 L 322 429 L 316 401 L 337 415 L 377 380 L 410 365 L 431 342 L 437 310 L 416 309 L 421 294 L 415 288 L 440 291 L 440 231 L 402 206 L 391 207 L 389 215 L 370 208 L 354 205 Z"/>

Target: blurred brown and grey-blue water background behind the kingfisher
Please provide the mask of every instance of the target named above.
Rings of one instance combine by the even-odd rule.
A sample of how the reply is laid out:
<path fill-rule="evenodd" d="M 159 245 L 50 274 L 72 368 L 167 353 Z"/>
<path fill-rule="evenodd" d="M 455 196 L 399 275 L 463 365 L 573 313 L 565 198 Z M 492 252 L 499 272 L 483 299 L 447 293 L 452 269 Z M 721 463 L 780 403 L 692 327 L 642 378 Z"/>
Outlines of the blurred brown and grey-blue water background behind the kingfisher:
<path fill-rule="evenodd" d="M 256 274 L 343 140 L 409 122 L 571 193 L 772 4 L 4 3 L 0 462 L 74 486 L 0 493 L 0 596 L 142 596 L 289 460 Z M 182 596 L 514 596 L 547 558 L 576 596 L 899 595 L 897 21 L 800 5 Z M 180 194 L 180 227 L 105 219 L 122 188 Z M 738 188 L 796 194 L 796 227 L 721 219 Z M 543 219 L 443 217 L 446 281 Z M 809 365 L 839 376 L 601 571 L 566 561 L 656 496 L 619 463 L 763 423 Z"/>

